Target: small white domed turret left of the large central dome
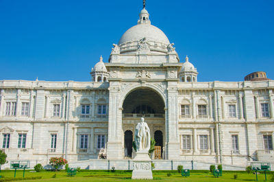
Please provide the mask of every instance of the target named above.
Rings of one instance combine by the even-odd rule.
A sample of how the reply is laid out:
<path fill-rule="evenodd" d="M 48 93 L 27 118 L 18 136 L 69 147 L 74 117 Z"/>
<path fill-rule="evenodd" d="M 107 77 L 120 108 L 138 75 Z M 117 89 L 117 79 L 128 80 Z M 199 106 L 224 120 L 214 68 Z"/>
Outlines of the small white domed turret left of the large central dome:
<path fill-rule="evenodd" d="M 93 82 L 108 82 L 108 70 L 103 63 L 103 57 L 96 63 L 95 67 L 91 69 L 90 76 Z"/>

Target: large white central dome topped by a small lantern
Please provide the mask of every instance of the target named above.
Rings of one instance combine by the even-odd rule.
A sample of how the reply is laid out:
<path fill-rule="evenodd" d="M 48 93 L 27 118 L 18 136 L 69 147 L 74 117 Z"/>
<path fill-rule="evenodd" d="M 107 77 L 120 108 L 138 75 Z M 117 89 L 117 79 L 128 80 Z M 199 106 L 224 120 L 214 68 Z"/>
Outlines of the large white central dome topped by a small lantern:
<path fill-rule="evenodd" d="M 120 38 L 119 45 L 129 41 L 140 41 L 142 38 L 146 38 L 147 41 L 155 41 L 169 45 L 169 38 L 166 37 L 164 32 L 158 27 L 151 25 L 147 10 L 142 9 L 139 16 L 138 25 L 129 28 L 129 30 L 123 34 Z"/>

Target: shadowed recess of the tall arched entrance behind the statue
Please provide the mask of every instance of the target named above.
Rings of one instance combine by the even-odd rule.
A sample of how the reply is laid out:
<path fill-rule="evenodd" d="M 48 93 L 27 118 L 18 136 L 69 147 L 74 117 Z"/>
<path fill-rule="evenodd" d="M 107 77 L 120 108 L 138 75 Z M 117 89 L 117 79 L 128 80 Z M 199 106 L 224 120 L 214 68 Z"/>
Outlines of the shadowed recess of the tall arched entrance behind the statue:
<path fill-rule="evenodd" d="M 132 130 L 134 134 L 136 124 L 140 122 L 140 117 L 145 117 L 145 122 L 149 125 L 151 138 L 153 139 L 156 130 L 164 131 L 164 108 L 164 100 L 153 89 L 140 87 L 127 94 L 123 102 L 122 111 L 125 157 L 132 156 L 128 153 L 129 149 L 127 148 L 128 146 L 132 146 L 132 144 L 127 142 L 132 141 L 126 139 L 126 132 Z M 162 140 L 164 139 L 165 137 Z"/>

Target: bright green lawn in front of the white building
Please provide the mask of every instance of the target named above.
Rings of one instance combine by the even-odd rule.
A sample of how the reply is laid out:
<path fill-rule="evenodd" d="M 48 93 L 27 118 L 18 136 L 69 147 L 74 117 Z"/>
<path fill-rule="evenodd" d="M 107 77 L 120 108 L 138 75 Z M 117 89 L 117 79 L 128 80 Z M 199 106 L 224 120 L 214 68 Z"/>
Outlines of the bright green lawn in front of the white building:
<path fill-rule="evenodd" d="M 64 170 L 58 172 L 45 171 L 42 172 L 30 172 L 26 170 L 25 177 L 42 177 L 42 179 L 36 180 L 24 180 L 26 181 L 132 181 L 132 172 L 119 171 L 106 172 L 97 170 L 82 170 L 76 174 L 75 177 L 67 177 Z M 247 174 L 246 172 L 223 172 L 223 177 L 215 178 L 210 172 L 204 171 L 190 171 L 190 177 L 182 177 L 179 173 L 171 172 L 171 177 L 167 177 L 169 171 L 153 171 L 153 181 L 256 181 L 255 174 Z M 56 174 L 56 178 L 52 178 Z M 234 179 L 234 174 L 238 175 L 238 178 Z M 1 176 L 5 178 L 14 177 L 14 170 L 2 170 Z M 267 174 L 267 181 L 271 181 L 273 172 Z M 16 178 L 23 177 L 23 170 L 17 170 Z M 134 181 L 147 181 L 147 180 L 134 180 Z M 264 174 L 258 175 L 258 181 L 264 181 Z"/>

